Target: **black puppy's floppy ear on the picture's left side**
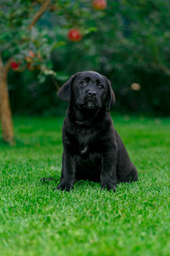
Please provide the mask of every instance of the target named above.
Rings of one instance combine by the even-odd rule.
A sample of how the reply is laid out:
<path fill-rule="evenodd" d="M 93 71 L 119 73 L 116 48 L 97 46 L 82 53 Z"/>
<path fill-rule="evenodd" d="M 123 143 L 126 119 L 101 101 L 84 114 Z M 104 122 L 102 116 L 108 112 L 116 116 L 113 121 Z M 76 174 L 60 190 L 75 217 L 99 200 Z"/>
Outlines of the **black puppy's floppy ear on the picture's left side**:
<path fill-rule="evenodd" d="M 70 79 L 68 79 L 65 84 L 59 89 L 58 96 L 61 100 L 65 102 L 71 102 L 71 84 L 73 79 L 75 78 L 75 75 L 71 76 Z"/>

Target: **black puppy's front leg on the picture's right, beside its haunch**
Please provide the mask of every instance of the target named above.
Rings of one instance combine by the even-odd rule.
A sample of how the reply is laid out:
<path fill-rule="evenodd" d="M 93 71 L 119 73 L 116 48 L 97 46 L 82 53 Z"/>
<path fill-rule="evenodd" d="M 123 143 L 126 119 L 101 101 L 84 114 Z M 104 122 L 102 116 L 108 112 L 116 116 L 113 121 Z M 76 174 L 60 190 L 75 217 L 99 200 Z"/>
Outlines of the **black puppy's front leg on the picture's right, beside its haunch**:
<path fill-rule="evenodd" d="M 116 190 L 116 155 L 106 152 L 102 157 L 101 189 Z"/>

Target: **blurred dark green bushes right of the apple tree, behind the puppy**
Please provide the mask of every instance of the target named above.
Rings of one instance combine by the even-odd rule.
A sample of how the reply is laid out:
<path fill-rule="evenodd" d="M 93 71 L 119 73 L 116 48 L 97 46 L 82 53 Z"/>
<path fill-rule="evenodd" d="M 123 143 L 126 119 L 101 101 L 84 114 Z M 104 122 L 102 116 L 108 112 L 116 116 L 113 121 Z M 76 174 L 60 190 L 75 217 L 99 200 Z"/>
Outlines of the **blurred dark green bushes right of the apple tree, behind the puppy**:
<path fill-rule="evenodd" d="M 116 91 L 115 107 L 121 111 L 169 114 L 170 2 L 107 3 L 104 12 L 94 12 L 94 20 L 88 20 L 88 26 L 96 27 L 94 33 L 78 47 L 67 44 L 56 49 L 54 67 L 70 74 L 90 69 L 105 74 Z M 140 84 L 140 90 L 132 90 L 133 83 Z"/>

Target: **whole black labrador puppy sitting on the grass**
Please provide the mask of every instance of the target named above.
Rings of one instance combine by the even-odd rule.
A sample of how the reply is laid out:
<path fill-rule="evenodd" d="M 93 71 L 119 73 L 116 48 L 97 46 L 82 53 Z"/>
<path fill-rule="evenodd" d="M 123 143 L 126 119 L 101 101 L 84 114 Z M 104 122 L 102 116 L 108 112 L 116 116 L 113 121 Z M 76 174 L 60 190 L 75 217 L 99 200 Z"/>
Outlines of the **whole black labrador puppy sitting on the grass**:
<path fill-rule="evenodd" d="M 138 172 L 116 132 L 110 109 L 115 102 L 105 76 L 85 71 L 71 76 L 59 90 L 70 103 L 63 125 L 61 181 L 56 189 L 70 191 L 75 180 L 101 183 L 116 190 L 116 183 L 132 182 Z"/>

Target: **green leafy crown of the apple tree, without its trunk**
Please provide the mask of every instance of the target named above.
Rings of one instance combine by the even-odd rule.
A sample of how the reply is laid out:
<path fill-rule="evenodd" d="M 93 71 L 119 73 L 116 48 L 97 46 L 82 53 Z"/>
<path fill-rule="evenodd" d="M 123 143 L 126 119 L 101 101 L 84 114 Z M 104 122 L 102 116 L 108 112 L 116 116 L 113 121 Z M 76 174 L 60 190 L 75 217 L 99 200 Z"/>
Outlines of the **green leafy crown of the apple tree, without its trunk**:
<path fill-rule="evenodd" d="M 0 53 L 3 55 L 3 61 L 13 56 L 14 61 L 20 63 L 20 68 L 16 71 L 23 71 L 23 67 L 31 71 L 39 69 L 40 83 L 44 82 L 47 75 L 57 76 L 52 70 L 50 56 L 54 49 L 66 44 L 68 28 L 82 26 L 83 32 L 83 24 L 90 17 L 83 1 L 52 1 L 44 15 L 45 18 L 42 17 L 41 22 L 29 29 L 41 3 L 43 4 L 43 1 L 10 0 L 3 1 L 0 6 Z M 54 15 L 51 8 L 56 9 L 57 15 Z M 62 38 L 62 35 L 58 38 L 59 29 L 65 34 L 65 38 Z M 92 31 L 94 28 L 89 27 L 85 33 Z M 31 59 L 30 51 L 35 55 Z"/>

